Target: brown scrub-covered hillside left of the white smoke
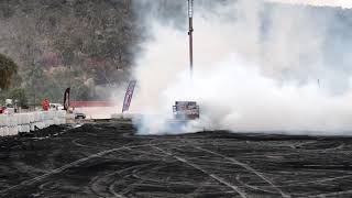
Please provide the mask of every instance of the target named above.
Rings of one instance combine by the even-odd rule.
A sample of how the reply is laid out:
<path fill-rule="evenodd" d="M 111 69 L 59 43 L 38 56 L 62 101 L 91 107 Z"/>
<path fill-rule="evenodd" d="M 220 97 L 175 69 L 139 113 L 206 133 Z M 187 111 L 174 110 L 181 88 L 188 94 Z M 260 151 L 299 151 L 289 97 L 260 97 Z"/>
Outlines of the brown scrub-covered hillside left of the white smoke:
<path fill-rule="evenodd" d="M 67 87 L 77 100 L 106 98 L 101 87 L 119 86 L 129 78 L 138 46 L 131 3 L 1 1 L 0 53 L 19 64 L 1 66 L 7 72 L 1 73 L 1 88 L 10 89 L 12 76 L 16 78 L 13 88 L 25 90 L 29 103 L 43 98 L 62 102 Z M 7 92 L 10 95 L 10 90 Z"/>

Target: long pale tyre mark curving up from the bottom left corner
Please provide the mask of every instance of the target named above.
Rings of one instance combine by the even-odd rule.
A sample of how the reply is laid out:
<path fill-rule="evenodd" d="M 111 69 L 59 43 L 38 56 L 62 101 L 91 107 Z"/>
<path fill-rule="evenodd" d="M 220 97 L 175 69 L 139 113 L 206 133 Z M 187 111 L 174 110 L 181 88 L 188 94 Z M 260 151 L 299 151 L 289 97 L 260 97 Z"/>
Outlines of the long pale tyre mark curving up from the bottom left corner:
<path fill-rule="evenodd" d="M 160 145 L 160 144 L 155 144 L 155 145 Z M 56 169 L 52 169 L 50 170 L 48 173 L 44 174 L 44 175 L 41 175 L 41 176 L 37 176 L 37 177 L 34 177 L 32 179 L 28 179 L 28 180 L 24 180 L 22 183 L 20 183 L 19 185 L 14 185 L 14 186 L 11 186 L 7 189 L 3 189 L 0 191 L 0 195 L 6 195 L 8 191 L 10 190 L 13 190 L 13 189 L 16 189 L 16 188 L 22 188 L 24 186 L 29 186 L 29 185 L 33 185 L 35 183 L 38 183 L 52 175 L 55 175 L 55 174 L 59 174 L 68 168 L 72 168 L 72 167 L 75 167 L 84 162 L 87 162 L 89 160 L 92 160 L 92 158 L 98 158 L 98 157 L 101 157 L 103 155 L 107 155 L 107 154 L 110 154 L 110 153 L 113 153 L 113 152 L 117 152 L 117 151 L 121 151 L 121 150 L 127 150 L 127 148 L 136 148 L 136 147 L 144 147 L 144 146 L 154 146 L 154 144 L 142 144 L 142 145 L 131 145 L 131 146 L 121 146 L 121 147 L 116 147 L 116 148 L 111 148 L 111 150 L 106 150 L 106 151 L 102 151 L 102 152 L 99 152 L 99 153 L 96 153 L 96 154 L 92 154 L 88 157 L 85 157 L 85 158 L 80 158 L 78 161 L 75 161 L 73 163 L 69 163 L 69 164 L 66 164 L 59 168 L 56 168 Z"/>

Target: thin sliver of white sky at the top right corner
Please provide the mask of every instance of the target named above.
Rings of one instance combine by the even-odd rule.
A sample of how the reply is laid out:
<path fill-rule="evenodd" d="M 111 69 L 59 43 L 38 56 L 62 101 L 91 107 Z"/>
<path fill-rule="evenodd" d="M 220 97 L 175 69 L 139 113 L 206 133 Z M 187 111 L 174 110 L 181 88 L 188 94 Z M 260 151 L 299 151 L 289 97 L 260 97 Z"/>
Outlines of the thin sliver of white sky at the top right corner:
<path fill-rule="evenodd" d="M 341 7 L 352 9 L 352 0 L 266 0 L 270 2 L 282 2 L 293 4 L 310 4 L 317 7 Z"/>

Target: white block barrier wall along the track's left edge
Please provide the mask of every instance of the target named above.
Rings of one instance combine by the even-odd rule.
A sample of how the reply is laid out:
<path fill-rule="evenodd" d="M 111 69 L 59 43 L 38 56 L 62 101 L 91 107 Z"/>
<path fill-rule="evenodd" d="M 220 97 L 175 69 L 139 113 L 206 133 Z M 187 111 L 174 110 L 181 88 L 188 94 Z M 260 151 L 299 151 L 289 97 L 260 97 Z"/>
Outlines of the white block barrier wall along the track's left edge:
<path fill-rule="evenodd" d="M 66 111 L 37 111 L 29 113 L 0 114 L 0 136 L 16 135 L 66 123 Z"/>

